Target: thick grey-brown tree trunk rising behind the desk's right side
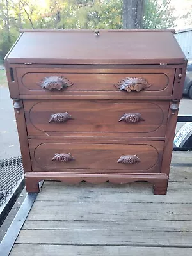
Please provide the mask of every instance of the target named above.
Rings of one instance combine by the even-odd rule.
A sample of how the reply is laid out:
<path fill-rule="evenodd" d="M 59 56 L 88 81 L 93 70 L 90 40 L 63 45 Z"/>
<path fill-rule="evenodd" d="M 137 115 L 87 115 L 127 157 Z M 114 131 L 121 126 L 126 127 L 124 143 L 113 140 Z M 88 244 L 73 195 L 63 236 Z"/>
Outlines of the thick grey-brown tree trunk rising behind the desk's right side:
<path fill-rule="evenodd" d="M 123 28 L 143 28 L 143 9 L 145 0 L 123 0 Z"/>

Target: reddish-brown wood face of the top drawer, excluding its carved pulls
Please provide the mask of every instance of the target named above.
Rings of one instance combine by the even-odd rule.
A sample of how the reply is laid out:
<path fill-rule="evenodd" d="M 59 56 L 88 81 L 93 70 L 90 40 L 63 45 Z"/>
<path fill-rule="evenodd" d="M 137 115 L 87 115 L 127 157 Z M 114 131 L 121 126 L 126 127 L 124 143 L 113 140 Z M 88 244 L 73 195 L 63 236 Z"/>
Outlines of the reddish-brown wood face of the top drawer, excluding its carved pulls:
<path fill-rule="evenodd" d="M 144 66 L 145 67 L 145 66 Z M 63 76 L 74 83 L 65 90 L 47 92 L 42 88 L 42 81 L 46 77 Z M 82 91 L 99 92 L 101 95 L 108 91 L 111 95 L 117 95 L 118 89 L 114 84 L 126 77 L 141 77 L 151 86 L 142 92 L 129 92 L 132 96 L 138 95 L 172 95 L 175 69 L 59 69 L 59 68 L 17 68 L 20 94 L 42 95 L 73 95 Z M 40 92 L 44 91 L 44 92 Z M 124 95 L 124 92 L 122 92 Z"/>

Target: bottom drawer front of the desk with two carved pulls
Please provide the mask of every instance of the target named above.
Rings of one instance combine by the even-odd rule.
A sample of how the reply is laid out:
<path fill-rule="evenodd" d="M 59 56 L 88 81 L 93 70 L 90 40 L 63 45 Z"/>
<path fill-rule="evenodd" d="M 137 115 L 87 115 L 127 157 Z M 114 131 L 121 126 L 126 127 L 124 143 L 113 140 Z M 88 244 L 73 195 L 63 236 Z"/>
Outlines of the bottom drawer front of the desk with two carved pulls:
<path fill-rule="evenodd" d="M 164 141 L 70 142 L 29 140 L 33 171 L 160 172 Z"/>

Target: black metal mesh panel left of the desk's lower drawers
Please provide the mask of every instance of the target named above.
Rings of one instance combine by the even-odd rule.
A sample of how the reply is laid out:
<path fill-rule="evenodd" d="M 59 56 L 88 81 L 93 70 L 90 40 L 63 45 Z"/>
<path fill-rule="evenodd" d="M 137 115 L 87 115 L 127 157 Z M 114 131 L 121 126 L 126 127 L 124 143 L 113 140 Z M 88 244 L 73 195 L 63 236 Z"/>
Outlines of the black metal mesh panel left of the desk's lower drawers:
<path fill-rule="evenodd" d="M 24 174 L 21 156 L 0 160 L 0 206 Z"/>

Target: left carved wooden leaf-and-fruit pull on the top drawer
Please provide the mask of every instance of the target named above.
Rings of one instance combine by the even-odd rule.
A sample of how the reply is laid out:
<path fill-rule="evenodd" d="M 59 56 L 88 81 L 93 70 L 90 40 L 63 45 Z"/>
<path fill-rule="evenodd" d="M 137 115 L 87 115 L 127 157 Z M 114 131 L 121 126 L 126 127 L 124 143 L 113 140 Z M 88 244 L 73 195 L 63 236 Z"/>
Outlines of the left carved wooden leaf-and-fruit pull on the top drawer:
<path fill-rule="evenodd" d="M 62 76 L 51 76 L 45 77 L 42 81 L 42 88 L 45 90 L 61 90 L 63 88 L 67 88 L 72 86 L 72 82 L 70 82 L 67 78 Z"/>

